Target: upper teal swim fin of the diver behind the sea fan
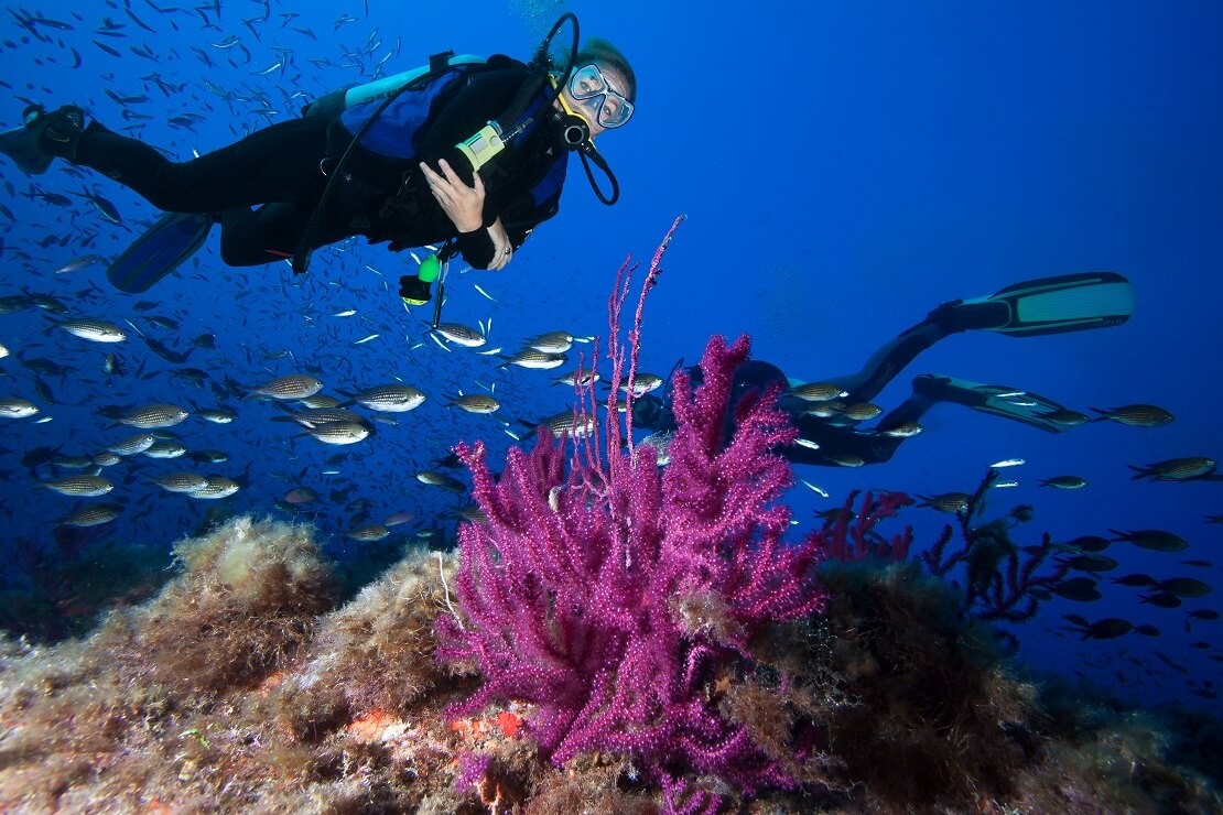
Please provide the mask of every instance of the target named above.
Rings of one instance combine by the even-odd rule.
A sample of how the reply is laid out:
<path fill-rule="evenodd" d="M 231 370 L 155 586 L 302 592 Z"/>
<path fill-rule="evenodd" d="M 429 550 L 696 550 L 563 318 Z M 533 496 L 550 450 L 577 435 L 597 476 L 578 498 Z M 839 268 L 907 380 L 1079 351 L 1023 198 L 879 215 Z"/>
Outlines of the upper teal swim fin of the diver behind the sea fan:
<path fill-rule="evenodd" d="M 1013 337 L 1120 325 L 1134 313 L 1134 287 L 1113 271 L 1041 277 L 991 297 L 955 303 L 953 330 L 997 331 Z"/>

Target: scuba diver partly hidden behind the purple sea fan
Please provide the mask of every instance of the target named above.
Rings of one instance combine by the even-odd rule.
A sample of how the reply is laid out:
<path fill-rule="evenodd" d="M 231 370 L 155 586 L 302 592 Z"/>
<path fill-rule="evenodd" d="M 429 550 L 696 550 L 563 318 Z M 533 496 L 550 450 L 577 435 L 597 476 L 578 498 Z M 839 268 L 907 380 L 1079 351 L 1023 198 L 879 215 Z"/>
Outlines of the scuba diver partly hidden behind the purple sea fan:
<path fill-rule="evenodd" d="M 1030 337 L 1085 331 L 1125 323 L 1134 310 L 1134 290 L 1115 272 L 1084 272 L 1042 277 L 1008 286 L 989 297 L 943 303 L 925 320 L 885 343 L 855 374 L 816 384 L 788 379 L 767 362 L 748 359 L 734 374 L 725 440 L 734 433 L 734 406 L 748 390 L 773 384 L 783 389 L 778 407 L 790 414 L 799 439 L 779 452 L 796 464 L 861 467 L 892 458 L 896 448 L 921 433 L 918 420 L 934 404 L 954 402 L 974 411 L 1022 422 L 1048 433 L 1063 433 L 1088 420 L 1031 391 L 1005 385 L 983 385 L 937 374 L 914 379 L 912 395 L 884 415 L 874 428 L 860 420 L 882 413 L 870 401 L 917 354 L 960 331 L 996 331 Z M 700 368 L 690 368 L 693 386 L 703 381 Z M 632 403 L 635 428 L 663 434 L 675 430 L 668 384 L 663 397 L 638 396 Z"/>

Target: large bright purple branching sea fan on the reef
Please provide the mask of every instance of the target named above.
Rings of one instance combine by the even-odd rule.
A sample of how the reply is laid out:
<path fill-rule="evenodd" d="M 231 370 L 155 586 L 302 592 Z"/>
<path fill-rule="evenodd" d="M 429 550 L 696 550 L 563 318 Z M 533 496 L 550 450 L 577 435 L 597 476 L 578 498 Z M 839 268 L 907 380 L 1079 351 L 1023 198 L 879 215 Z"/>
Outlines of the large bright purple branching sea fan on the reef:
<path fill-rule="evenodd" d="M 658 255 L 647 290 L 657 264 Z M 613 325 L 623 299 L 621 290 Z M 613 398 L 623 367 L 614 336 Z M 795 435 L 778 392 L 741 400 L 734 436 L 723 440 L 747 349 L 746 337 L 729 348 L 711 338 L 695 395 L 676 375 L 665 470 L 648 446 L 620 451 L 615 411 L 604 418 L 605 463 L 587 439 L 566 467 L 565 440 L 541 429 L 534 450 L 511 450 L 494 480 L 482 444 L 457 448 L 488 523 L 460 530 L 461 613 L 438 621 L 439 656 L 486 682 L 448 715 L 527 701 L 530 732 L 558 765 L 621 751 L 649 770 L 680 764 L 745 792 L 793 784 L 707 693 L 736 657 L 751 659 L 762 626 L 823 604 L 815 583 L 823 539 L 783 541 L 790 512 L 773 505 L 791 480 L 773 450 Z"/>

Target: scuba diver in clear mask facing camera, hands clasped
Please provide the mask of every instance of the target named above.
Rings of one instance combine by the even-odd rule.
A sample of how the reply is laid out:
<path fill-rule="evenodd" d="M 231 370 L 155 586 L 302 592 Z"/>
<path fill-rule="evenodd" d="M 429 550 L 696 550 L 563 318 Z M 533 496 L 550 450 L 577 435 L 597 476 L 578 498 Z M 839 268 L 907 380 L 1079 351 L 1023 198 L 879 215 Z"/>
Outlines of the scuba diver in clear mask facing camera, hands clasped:
<path fill-rule="evenodd" d="M 566 21 L 569 65 L 556 67 L 548 48 Z M 592 139 L 632 117 L 636 77 L 607 40 L 577 44 L 577 20 L 566 13 L 530 64 L 434 55 L 428 66 L 327 94 L 300 119 L 183 163 L 87 125 L 75 105 L 29 105 L 24 126 L 0 134 L 0 153 L 28 174 L 66 159 L 171 213 L 116 261 L 127 268 L 111 280 L 125 291 L 147 290 L 197 250 L 214 222 L 231 266 L 291 258 L 302 272 L 313 249 L 360 235 L 395 252 L 445 243 L 443 260 L 461 252 L 477 269 L 500 270 L 556 214 L 569 152 L 580 154 L 603 203 L 619 194 Z M 588 161 L 612 180 L 610 197 Z M 401 282 L 405 301 L 430 298 L 429 281 Z"/>

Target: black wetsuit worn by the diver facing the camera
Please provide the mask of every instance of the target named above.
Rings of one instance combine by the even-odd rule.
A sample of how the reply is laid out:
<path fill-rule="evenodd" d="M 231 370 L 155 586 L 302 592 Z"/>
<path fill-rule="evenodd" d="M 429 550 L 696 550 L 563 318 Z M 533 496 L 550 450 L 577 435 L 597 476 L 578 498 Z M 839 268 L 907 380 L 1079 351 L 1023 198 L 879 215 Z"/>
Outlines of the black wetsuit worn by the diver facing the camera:
<path fill-rule="evenodd" d="M 459 233 L 418 180 L 417 161 L 435 171 L 445 159 L 472 182 L 470 161 L 455 144 L 489 120 L 501 116 L 526 79 L 526 67 L 504 56 L 490 57 L 457 87 L 439 97 L 418 133 L 405 133 L 417 145 L 417 159 L 380 156 L 358 147 L 338 180 L 313 247 L 361 235 L 391 248 L 442 243 L 457 238 L 464 259 L 487 268 L 493 242 L 487 228 Z M 541 92 L 541 95 L 544 92 Z M 297 250 L 329 172 L 351 142 L 339 117 L 303 116 L 272 125 L 191 161 L 175 163 L 155 148 L 93 122 L 76 150 L 77 164 L 103 172 L 166 211 L 212 213 L 221 221 L 221 258 L 234 266 L 270 263 Z M 536 200 L 532 191 L 565 161 L 564 147 L 544 121 L 515 142 L 482 171 L 486 187 L 484 227 L 497 217 L 515 248 L 539 222 L 555 215 L 560 198 Z M 440 171 L 439 171 L 440 172 Z M 259 209 L 252 211 L 251 206 Z"/>

